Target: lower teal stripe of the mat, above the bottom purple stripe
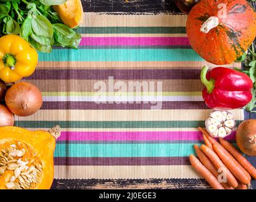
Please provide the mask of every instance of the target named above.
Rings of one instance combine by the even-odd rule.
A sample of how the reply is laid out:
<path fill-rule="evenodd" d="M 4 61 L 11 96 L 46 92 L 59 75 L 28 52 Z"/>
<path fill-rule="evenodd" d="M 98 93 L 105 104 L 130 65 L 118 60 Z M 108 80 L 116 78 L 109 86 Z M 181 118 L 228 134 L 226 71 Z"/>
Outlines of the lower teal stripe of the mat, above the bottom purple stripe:
<path fill-rule="evenodd" d="M 55 157 L 188 157 L 192 144 L 57 144 Z"/>

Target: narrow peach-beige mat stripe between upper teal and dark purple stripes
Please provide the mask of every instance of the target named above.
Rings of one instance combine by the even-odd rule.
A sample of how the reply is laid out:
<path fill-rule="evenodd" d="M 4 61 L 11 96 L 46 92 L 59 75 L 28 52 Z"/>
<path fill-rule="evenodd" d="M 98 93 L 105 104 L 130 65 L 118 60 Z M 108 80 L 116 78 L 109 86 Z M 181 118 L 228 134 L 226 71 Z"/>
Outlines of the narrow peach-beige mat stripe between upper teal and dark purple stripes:
<path fill-rule="evenodd" d="M 217 65 L 203 61 L 177 62 L 39 62 L 38 69 L 202 69 L 204 65 L 215 68 Z M 241 67 L 241 63 L 226 65 L 227 68 Z"/>

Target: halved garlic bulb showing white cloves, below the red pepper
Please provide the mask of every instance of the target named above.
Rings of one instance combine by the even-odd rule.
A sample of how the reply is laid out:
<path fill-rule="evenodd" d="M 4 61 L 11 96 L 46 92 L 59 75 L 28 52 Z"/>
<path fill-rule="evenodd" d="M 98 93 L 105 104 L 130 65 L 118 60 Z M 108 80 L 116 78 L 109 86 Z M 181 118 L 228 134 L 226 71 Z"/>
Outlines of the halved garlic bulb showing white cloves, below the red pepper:
<path fill-rule="evenodd" d="M 233 114 L 227 111 L 214 110 L 205 121 L 205 128 L 214 138 L 224 138 L 231 134 L 235 125 Z"/>

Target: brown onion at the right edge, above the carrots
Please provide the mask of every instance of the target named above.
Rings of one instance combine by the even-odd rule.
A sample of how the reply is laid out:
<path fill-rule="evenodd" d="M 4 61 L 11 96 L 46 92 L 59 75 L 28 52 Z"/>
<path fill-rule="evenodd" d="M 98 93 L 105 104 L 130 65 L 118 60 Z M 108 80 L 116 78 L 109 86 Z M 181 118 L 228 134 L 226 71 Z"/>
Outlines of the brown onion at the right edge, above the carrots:
<path fill-rule="evenodd" d="M 246 155 L 256 156 L 256 119 L 241 122 L 236 131 L 236 143 Z"/>

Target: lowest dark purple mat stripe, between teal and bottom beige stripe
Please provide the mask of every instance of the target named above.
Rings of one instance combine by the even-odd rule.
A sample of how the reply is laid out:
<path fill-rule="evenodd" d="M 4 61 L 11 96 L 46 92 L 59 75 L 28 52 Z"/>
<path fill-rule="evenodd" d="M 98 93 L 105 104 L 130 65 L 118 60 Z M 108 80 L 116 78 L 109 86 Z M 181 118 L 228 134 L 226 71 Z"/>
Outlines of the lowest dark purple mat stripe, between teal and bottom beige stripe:
<path fill-rule="evenodd" d="M 55 157 L 54 165 L 189 165 L 188 157 Z"/>

